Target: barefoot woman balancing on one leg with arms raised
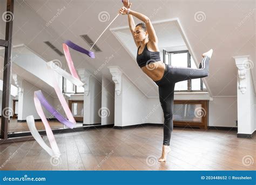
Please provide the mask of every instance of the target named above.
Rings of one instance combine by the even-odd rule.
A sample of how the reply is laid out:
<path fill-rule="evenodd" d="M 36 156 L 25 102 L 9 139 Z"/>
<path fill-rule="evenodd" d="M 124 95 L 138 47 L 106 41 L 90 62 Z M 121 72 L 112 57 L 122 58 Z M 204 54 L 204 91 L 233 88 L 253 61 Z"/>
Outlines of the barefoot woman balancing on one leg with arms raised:
<path fill-rule="evenodd" d="M 150 19 L 142 13 L 131 10 L 131 3 L 128 0 L 124 0 L 123 3 L 124 7 L 119 10 L 119 13 L 128 15 L 130 31 L 138 47 L 137 63 L 142 71 L 158 85 L 159 100 L 164 112 L 164 141 L 162 154 L 158 161 L 163 162 L 166 161 L 166 156 L 171 150 L 174 86 L 179 81 L 207 77 L 213 50 L 202 55 L 204 59 L 199 65 L 199 69 L 164 64 L 160 60 L 158 38 Z M 135 26 L 132 16 L 142 20 L 143 23 Z"/>

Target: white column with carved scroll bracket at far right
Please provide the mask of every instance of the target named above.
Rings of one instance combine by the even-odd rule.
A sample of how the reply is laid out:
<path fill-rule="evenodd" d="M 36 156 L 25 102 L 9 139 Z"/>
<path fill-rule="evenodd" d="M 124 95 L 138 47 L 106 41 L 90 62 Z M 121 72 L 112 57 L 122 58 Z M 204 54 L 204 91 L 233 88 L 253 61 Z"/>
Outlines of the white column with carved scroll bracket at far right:
<path fill-rule="evenodd" d="M 254 132 L 254 87 L 251 75 L 253 62 L 250 56 L 237 56 L 235 65 L 238 68 L 237 104 L 238 104 L 238 136 Z"/>

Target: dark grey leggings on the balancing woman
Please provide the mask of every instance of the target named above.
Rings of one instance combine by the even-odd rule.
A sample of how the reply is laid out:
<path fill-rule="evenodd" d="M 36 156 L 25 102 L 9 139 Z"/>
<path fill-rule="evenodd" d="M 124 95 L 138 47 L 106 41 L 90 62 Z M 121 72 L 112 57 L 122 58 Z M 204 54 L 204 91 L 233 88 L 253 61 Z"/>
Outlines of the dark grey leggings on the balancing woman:
<path fill-rule="evenodd" d="M 163 145 L 170 145 L 173 130 L 173 97 L 174 86 L 179 81 L 203 78 L 208 76 L 209 57 L 204 57 L 202 68 L 173 67 L 165 64 L 163 78 L 154 81 L 158 85 L 159 100 L 164 112 L 164 141 Z"/>

